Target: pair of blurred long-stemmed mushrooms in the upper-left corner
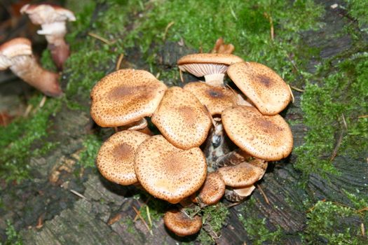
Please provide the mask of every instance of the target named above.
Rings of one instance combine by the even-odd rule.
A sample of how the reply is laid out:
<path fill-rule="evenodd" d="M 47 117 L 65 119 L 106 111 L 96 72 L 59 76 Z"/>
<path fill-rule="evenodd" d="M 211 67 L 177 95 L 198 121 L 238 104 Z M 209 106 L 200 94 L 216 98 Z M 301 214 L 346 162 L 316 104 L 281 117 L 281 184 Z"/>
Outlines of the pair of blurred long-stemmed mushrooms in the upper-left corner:
<path fill-rule="evenodd" d="M 69 45 L 64 41 L 66 22 L 76 20 L 65 8 L 50 4 L 27 4 L 20 13 L 29 15 L 35 25 L 41 25 L 38 34 L 45 35 L 53 61 L 58 69 L 69 57 Z M 32 43 L 27 38 L 13 38 L 0 45 L 0 70 L 10 68 L 15 75 L 50 97 L 62 94 L 58 83 L 59 75 L 43 69 L 32 53 Z"/>

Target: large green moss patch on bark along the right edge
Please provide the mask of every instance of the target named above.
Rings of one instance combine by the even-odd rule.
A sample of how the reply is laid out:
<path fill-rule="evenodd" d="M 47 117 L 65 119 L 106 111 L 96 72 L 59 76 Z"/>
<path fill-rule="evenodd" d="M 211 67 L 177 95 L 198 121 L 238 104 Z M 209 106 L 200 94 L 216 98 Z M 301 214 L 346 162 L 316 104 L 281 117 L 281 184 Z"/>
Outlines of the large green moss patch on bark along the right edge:
<path fill-rule="evenodd" d="M 336 173 L 330 158 L 340 135 L 337 154 L 355 158 L 368 148 L 368 118 L 360 118 L 368 110 L 367 57 L 367 53 L 353 55 L 332 68 L 328 62 L 315 76 L 318 83 L 307 83 L 301 109 L 308 133 L 305 144 L 294 151 L 295 166 L 305 174 Z M 327 77 L 323 76 L 326 69 Z"/>

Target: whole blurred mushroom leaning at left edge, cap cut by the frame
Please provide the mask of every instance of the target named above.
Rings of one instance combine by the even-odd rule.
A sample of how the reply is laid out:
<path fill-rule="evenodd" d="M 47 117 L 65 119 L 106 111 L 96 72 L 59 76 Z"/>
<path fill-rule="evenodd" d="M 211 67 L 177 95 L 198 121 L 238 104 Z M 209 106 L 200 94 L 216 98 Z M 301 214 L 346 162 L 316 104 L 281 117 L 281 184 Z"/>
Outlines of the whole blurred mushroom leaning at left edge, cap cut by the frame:
<path fill-rule="evenodd" d="M 31 41 L 14 38 L 0 46 L 0 70 L 11 69 L 26 83 L 50 97 L 62 95 L 57 73 L 43 69 L 32 55 Z"/>

